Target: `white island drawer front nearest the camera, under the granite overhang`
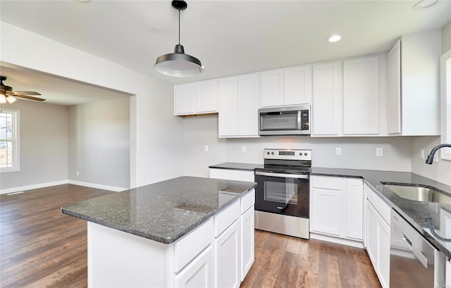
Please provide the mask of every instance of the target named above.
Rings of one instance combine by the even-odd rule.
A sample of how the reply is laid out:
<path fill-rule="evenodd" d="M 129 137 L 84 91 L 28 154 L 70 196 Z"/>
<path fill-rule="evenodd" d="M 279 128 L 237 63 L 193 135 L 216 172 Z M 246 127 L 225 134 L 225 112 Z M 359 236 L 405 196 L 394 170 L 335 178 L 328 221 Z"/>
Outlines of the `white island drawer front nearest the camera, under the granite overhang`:
<path fill-rule="evenodd" d="M 174 243 L 174 270 L 175 273 L 182 270 L 199 253 L 201 253 L 212 242 L 213 220 L 197 227 Z"/>

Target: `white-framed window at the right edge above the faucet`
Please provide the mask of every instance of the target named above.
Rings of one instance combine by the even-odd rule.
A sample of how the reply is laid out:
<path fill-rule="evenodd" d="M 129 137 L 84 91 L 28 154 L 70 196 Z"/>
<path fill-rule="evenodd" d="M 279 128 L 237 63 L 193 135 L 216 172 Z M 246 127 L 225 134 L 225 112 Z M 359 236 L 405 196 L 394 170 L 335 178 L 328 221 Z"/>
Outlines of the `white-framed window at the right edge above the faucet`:
<path fill-rule="evenodd" d="M 440 57 L 442 143 L 451 143 L 451 50 Z M 451 160 L 451 148 L 443 148 L 441 158 Z"/>

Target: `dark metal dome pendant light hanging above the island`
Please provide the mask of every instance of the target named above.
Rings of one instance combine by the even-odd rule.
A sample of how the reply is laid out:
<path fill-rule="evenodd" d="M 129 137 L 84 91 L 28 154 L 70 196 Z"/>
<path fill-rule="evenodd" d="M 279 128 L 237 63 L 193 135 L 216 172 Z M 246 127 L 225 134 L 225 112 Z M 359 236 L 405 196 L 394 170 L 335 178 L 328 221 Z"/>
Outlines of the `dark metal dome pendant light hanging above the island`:
<path fill-rule="evenodd" d="M 165 54 L 156 58 L 155 70 L 159 73 L 173 77 L 192 77 L 204 72 L 204 67 L 196 57 L 185 54 L 183 45 L 180 44 L 180 10 L 185 10 L 187 4 L 183 0 L 173 0 L 173 8 L 178 10 L 178 44 L 174 53 Z"/>

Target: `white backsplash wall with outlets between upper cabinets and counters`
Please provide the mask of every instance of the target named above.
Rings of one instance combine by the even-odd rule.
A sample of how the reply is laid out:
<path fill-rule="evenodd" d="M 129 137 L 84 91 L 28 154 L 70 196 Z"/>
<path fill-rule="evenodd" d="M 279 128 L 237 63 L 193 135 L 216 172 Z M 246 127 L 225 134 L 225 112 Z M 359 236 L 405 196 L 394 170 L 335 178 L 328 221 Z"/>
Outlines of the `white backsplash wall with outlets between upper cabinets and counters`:
<path fill-rule="evenodd" d="M 217 115 L 184 118 L 185 174 L 209 177 L 209 165 L 223 162 L 263 163 L 263 149 L 311 149 L 316 167 L 410 171 L 411 137 L 260 137 L 218 139 Z M 209 145 L 209 152 L 204 146 Z M 242 153 L 242 146 L 246 152 Z M 342 156 L 335 156 L 341 147 Z M 376 147 L 383 157 L 376 157 Z"/>

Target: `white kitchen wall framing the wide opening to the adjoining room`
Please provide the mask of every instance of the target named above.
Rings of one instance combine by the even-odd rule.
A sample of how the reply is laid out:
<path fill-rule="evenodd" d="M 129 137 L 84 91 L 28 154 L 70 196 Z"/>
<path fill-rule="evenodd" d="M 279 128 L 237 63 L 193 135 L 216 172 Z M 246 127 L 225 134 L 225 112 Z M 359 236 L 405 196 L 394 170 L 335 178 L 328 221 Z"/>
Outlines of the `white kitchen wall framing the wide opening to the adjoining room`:
<path fill-rule="evenodd" d="M 1 21 L 0 32 L 3 65 L 134 95 L 130 98 L 130 187 L 183 174 L 183 123 L 173 117 L 171 84 Z"/>

